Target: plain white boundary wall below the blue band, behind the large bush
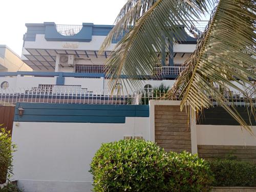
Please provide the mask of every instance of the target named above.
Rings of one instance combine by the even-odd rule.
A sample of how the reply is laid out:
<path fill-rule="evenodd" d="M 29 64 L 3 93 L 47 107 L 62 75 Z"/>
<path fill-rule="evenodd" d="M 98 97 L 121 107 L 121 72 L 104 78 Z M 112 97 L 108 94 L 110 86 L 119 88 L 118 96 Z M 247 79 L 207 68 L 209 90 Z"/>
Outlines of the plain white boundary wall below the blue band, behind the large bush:
<path fill-rule="evenodd" d="M 16 123 L 13 179 L 26 192 L 90 191 L 89 164 L 101 143 L 124 136 L 150 139 L 148 117 L 126 117 L 125 123 Z"/>

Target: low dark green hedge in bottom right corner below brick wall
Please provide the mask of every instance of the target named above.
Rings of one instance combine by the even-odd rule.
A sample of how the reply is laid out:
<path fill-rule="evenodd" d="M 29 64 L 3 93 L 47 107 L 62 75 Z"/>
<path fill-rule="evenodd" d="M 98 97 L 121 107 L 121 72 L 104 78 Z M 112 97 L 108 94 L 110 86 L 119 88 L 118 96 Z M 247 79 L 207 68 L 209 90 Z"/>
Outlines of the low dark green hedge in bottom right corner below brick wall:
<path fill-rule="evenodd" d="M 236 160 L 210 161 L 215 186 L 256 186 L 256 164 Z"/>

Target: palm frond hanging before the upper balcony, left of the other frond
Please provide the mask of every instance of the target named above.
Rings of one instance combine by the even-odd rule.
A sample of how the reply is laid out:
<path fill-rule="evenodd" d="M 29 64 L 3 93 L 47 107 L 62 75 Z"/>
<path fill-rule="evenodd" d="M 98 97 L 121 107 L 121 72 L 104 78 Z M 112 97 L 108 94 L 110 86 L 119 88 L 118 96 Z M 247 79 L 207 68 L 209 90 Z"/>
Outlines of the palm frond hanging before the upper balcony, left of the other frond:
<path fill-rule="evenodd" d="M 184 40 L 186 34 L 180 25 L 189 28 L 193 22 L 187 20 L 198 19 L 209 5 L 211 0 L 128 1 L 101 47 L 101 51 L 105 50 L 113 39 L 125 33 L 106 60 L 111 90 L 120 83 L 122 74 L 128 77 L 125 84 L 140 86 L 139 77 L 151 74 L 159 62 L 158 53 L 168 50 L 166 42 Z"/>

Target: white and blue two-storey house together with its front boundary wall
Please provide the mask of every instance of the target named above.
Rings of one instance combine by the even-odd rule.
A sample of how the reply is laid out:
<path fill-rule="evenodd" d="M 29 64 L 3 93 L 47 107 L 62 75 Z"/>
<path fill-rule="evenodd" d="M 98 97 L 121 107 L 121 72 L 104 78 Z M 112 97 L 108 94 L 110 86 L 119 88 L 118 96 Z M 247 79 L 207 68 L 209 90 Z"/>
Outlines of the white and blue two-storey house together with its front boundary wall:
<path fill-rule="evenodd" d="M 169 151 L 187 150 L 200 157 L 236 149 L 241 158 L 256 162 L 255 138 L 242 134 L 220 106 L 205 110 L 200 123 L 196 115 L 180 112 L 180 101 L 148 102 L 133 90 L 109 95 L 104 62 L 116 42 L 101 55 L 99 48 L 113 26 L 26 26 L 21 59 L 33 71 L 0 72 L 0 110 L 14 111 L 12 141 L 17 151 L 12 180 L 24 191 L 91 191 L 88 171 L 95 152 L 101 143 L 124 138 L 143 138 Z M 185 41 L 173 45 L 173 57 L 159 54 L 159 78 L 141 80 L 142 89 L 149 92 L 161 83 L 171 87 L 181 63 L 196 49 L 198 35 L 187 32 Z M 247 118 L 243 98 L 232 99 L 238 100 L 237 107 Z M 256 133 L 256 122 L 252 124 Z M 248 148 L 243 147 L 245 142 Z"/>

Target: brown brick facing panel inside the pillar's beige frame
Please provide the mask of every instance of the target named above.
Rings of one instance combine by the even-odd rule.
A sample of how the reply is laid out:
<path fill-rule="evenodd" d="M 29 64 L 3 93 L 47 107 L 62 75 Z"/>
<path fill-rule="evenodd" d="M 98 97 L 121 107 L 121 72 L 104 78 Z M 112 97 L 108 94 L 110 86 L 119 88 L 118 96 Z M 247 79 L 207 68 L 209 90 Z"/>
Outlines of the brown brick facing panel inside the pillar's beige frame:
<path fill-rule="evenodd" d="M 155 105 L 155 142 L 165 151 L 191 153 L 190 124 L 185 109 L 177 105 Z"/>

